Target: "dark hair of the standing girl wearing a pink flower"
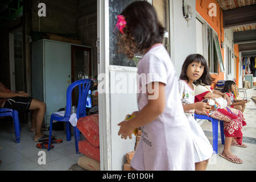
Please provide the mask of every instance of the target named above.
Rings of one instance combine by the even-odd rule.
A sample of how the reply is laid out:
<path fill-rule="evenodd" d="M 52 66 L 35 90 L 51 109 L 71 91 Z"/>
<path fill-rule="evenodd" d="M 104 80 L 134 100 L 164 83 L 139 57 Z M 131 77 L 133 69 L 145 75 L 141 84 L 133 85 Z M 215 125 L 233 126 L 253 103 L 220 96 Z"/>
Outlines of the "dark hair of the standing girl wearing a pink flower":
<path fill-rule="evenodd" d="M 130 3 L 120 15 L 125 16 L 125 34 L 118 33 L 119 52 L 130 59 L 135 53 L 163 42 L 164 28 L 159 23 L 156 11 L 146 1 Z"/>

